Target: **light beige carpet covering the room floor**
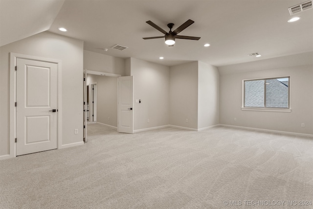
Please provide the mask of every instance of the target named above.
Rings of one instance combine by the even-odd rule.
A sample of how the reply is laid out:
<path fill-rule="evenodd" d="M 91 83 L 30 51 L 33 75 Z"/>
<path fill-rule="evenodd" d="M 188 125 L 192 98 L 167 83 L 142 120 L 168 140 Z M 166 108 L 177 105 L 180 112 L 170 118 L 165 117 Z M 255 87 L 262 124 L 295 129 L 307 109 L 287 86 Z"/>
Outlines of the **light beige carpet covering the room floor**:
<path fill-rule="evenodd" d="M 313 208 L 312 138 L 88 126 L 85 145 L 0 161 L 0 208 Z"/>

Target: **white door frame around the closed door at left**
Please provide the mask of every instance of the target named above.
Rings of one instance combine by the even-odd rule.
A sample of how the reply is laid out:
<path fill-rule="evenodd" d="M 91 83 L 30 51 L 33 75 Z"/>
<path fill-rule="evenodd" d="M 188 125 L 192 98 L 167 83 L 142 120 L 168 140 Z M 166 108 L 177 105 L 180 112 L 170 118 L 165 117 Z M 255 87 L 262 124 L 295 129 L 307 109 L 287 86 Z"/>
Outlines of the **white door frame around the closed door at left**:
<path fill-rule="evenodd" d="M 43 62 L 50 62 L 57 64 L 57 109 L 58 109 L 58 119 L 57 119 L 57 148 L 60 149 L 62 146 L 62 61 L 56 59 L 50 59 L 45 57 L 38 57 L 32 55 L 25 55 L 19 53 L 10 52 L 10 154 L 8 158 L 16 157 L 16 61 L 18 58 L 29 59 Z"/>

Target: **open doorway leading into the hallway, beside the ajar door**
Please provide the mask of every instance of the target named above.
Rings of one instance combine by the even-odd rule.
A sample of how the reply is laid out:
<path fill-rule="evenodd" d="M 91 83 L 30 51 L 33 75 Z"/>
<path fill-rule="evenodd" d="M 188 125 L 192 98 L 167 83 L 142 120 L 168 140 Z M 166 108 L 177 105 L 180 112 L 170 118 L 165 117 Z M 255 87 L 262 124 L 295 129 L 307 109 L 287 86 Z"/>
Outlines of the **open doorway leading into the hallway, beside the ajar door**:
<path fill-rule="evenodd" d="M 84 141 L 88 141 L 88 125 L 97 123 L 117 131 L 117 99 L 119 74 L 85 70 L 84 73 Z M 91 133 L 90 133 L 91 134 Z"/>

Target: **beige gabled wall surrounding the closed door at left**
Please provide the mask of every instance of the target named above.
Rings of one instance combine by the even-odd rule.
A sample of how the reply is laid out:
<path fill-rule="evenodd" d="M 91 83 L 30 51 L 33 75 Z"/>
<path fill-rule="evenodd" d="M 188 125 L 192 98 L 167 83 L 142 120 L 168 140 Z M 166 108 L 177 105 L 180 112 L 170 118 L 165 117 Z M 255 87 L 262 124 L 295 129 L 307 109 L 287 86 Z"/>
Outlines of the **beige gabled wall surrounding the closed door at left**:
<path fill-rule="evenodd" d="M 10 52 L 62 60 L 62 145 L 83 141 L 83 45 L 83 41 L 43 32 L 0 47 L 0 156 L 10 154 Z"/>

